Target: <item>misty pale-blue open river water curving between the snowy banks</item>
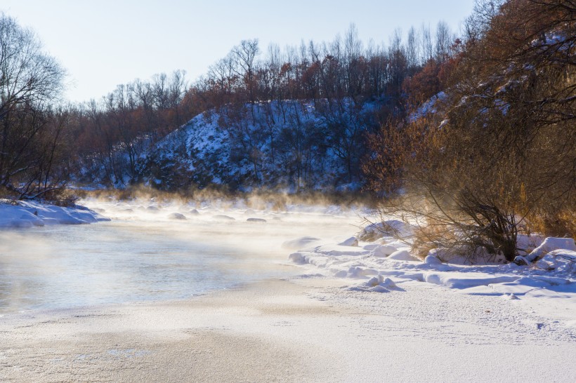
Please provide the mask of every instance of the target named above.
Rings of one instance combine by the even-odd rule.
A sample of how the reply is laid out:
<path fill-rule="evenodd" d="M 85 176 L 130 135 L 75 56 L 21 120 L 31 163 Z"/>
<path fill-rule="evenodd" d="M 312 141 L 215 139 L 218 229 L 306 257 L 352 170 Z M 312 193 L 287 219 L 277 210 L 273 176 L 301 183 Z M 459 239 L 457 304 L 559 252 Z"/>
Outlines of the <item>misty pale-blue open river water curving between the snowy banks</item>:
<path fill-rule="evenodd" d="M 249 208 L 242 202 L 84 201 L 112 218 L 88 225 L 0 231 L 0 314 L 31 309 L 178 300 L 302 273 L 282 243 L 343 239 L 358 210 Z"/>

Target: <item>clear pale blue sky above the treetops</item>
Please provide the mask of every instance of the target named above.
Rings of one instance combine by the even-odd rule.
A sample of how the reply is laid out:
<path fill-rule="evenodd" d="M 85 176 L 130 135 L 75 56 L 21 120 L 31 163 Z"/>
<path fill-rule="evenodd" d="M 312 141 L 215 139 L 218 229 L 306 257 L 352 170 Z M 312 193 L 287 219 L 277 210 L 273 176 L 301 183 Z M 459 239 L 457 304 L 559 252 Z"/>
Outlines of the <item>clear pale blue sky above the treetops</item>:
<path fill-rule="evenodd" d="M 332 41 L 351 22 L 360 38 L 388 44 L 395 28 L 445 20 L 457 31 L 473 0 L 2 0 L 0 11 L 32 27 L 69 73 L 72 101 L 100 98 L 119 83 L 184 69 L 207 72 L 242 39 L 299 45 Z"/>

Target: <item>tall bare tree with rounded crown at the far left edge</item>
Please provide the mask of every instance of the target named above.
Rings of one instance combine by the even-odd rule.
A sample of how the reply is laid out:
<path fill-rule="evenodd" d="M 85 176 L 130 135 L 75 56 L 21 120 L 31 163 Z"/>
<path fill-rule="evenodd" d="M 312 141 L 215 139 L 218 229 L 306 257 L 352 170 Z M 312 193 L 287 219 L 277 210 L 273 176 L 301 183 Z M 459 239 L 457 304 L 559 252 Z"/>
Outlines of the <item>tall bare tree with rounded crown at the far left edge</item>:
<path fill-rule="evenodd" d="M 31 199 L 62 186 L 67 112 L 53 102 L 64 75 L 32 31 L 0 13 L 0 193 Z"/>

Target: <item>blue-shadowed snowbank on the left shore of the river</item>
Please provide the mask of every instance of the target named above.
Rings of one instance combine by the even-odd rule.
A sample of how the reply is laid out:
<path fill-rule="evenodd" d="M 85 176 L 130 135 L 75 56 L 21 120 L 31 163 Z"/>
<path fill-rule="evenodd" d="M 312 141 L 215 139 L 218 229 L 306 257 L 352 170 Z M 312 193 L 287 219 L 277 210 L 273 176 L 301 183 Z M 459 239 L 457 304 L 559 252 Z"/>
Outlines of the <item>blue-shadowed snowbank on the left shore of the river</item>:
<path fill-rule="evenodd" d="M 89 224 L 109 218 L 82 206 L 63 207 L 35 201 L 0 199 L 0 227 L 30 228 L 51 224 Z"/>

